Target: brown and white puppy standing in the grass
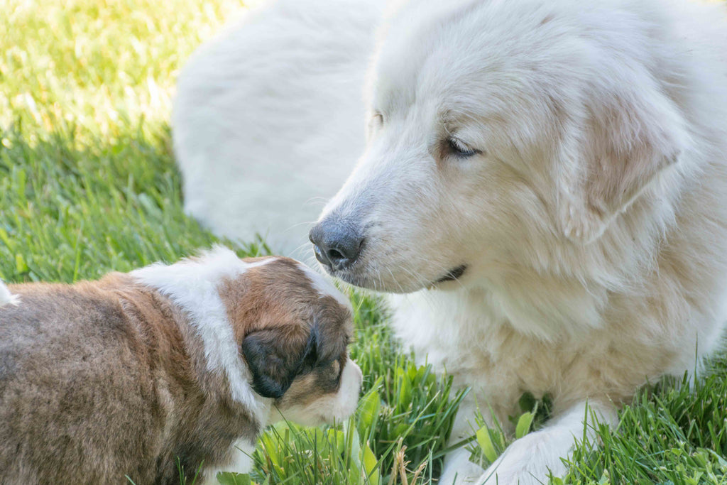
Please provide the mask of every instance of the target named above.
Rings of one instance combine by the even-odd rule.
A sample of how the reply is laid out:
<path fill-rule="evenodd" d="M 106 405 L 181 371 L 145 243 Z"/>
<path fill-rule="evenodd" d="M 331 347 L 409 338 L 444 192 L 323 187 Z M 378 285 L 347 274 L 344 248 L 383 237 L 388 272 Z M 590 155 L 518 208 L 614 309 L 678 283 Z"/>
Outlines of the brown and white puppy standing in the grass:
<path fill-rule="evenodd" d="M 216 248 L 100 281 L 9 289 L 3 484 L 178 484 L 177 460 L 214 483 L 219 470 L 249 470 L 280 413 L 318 425 L 356 409 L 350 303 L 300 262 Z"/>

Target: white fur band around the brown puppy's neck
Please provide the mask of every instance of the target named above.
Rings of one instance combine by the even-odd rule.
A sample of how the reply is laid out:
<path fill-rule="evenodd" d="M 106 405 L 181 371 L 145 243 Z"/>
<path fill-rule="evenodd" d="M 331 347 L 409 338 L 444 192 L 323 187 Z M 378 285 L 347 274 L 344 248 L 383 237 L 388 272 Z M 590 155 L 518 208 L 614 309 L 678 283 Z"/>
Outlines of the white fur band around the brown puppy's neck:
<path fill-rule="evenodd" d="M 240 260 L 232 250 L 215 246 L 196 259 L 173 265 L 159 262 L 131 273 L 140 283 L 165 294 L 188 313 L 190 324 L 204 342 L 208 368 L 225 374 L 233 399 L 244 404 L 257 417 L 257 422 L 265 422 L 269 400 L 252 390 L 252 376 L 235 345 L 218 287 L 222 279 L 240 276 L 249 268 L 273 260 L 275 258 L 248 263 Z"/>

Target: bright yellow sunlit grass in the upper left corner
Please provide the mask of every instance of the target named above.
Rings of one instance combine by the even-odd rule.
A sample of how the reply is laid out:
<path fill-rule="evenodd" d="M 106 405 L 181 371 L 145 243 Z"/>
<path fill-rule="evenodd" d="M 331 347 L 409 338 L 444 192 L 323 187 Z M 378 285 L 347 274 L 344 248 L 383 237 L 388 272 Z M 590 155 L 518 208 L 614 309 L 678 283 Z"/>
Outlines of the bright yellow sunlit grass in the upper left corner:
<path fill-rule="evenodd" d="M 62 122 L 107 143 L 169 119 L 177 70 L 239 0 L 2 0 L 0 126 Z M 121 125 L 121 126 L 119 126 Z"/>

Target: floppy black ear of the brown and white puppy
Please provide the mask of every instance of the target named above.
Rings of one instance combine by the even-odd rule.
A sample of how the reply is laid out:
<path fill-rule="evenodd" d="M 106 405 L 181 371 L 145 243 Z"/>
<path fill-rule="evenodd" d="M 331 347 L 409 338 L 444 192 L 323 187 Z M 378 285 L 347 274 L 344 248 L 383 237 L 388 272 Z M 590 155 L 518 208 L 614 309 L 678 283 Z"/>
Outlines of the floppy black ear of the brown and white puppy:
<path fill-rule="evenodd" d="M 252 374 L 252 388 L 265 398 L 279 398 L 300 374 L 306 356 L 315 345 L 313 333 L 281 334 L 279 329 L 247 335 L 241 351 Z"/>

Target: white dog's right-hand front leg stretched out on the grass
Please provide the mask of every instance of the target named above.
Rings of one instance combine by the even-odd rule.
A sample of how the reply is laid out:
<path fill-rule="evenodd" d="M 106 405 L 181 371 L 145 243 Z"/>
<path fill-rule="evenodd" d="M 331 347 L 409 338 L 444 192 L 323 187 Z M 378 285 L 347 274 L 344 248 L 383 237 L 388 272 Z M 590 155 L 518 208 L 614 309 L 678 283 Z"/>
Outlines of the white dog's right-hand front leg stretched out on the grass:
<path fill-rule="evenodd" d="M 550 473 L 563 476 L 576 439 L 593 439 L 595 421 L 616 425 L 616 407 L 612 404 L 586 402 L 557 414 L 542 430 L 513 442 L 477 482 L 478 484 L 536 485 L 547 484 Z"/>

